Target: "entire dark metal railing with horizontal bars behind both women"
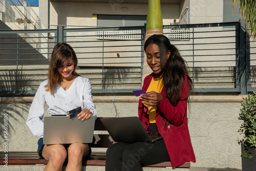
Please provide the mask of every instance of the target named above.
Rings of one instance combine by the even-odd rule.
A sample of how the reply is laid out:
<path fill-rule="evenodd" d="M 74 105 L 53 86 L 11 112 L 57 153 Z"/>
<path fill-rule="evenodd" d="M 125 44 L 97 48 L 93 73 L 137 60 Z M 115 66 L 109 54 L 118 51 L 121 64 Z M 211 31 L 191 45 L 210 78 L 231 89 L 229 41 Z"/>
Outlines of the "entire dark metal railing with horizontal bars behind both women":
<path fill-rule="evenodd" d="M 195 92 L 247 94 L 256 87 L 255 42 L 239 22 L 171 25 L 163 30 L 187 61 Z M 140 89 L 144 33 L 144 27 L 2 30 L 0 94 L 35 93 L 47 79 L 57 42 L 74 48 L 77 71 L 91 80 L 93 92 Z"/>

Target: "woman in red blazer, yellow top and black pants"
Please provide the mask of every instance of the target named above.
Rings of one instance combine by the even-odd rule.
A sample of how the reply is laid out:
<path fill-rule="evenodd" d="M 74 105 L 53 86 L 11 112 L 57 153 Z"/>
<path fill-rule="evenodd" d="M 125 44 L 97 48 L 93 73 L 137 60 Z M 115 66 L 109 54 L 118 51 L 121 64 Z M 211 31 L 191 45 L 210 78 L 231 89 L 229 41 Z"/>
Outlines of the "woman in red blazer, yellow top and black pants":
<path fill-rule="evenodd" d="M 140 95 L 139 118 L 149 134 L 162 139 L 113 144 L 106 152 L 106 171 L 142 170 L 141 164 L 163 161 L 173 167 L 196 162 L 187 126 L 187 99 L 193 86 L 187 64 L 164 35 L 149 37 L 144 51 L 153 73 L 144 79 L 147 94 Z"/>

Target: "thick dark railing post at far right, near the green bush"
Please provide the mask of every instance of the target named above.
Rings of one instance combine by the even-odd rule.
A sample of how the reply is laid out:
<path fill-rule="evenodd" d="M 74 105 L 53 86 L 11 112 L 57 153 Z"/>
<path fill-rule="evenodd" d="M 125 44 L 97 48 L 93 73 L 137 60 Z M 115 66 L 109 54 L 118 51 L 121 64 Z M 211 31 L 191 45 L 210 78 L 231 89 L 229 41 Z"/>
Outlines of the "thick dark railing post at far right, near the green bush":
<path fill-rule="evenodd" d="M 241 21 L 239 22 L 239 30 L 240 30 L 240 36 L 239 36 L 239 42 L 240 42 L 240 93 L 241 95 L 247 94 L 247 79 L 246 79 L 246 27 L 245 24 Z M 238 66 L 239 67 L 239 66 Z"/>

